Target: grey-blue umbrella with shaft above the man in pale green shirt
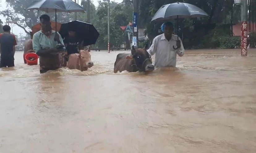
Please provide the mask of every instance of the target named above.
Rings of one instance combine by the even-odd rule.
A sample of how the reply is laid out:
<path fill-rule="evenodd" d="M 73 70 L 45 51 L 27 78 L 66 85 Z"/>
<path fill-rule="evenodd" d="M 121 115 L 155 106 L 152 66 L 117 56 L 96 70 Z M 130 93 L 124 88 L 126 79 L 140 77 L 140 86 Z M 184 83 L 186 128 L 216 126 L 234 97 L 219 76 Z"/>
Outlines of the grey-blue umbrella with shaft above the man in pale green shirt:
<path fill-rule="evenodd" d="M 40 0 L 32 2 L 26 10 L 42 10 L 44 12 L 55 12 L 55 22 L 57 27 L 57 12 L 83 12 L 85 13 L 82 6 L 73 2 L 72 0 Z M 57 31 L 57 29 L 56 29 Z"/>

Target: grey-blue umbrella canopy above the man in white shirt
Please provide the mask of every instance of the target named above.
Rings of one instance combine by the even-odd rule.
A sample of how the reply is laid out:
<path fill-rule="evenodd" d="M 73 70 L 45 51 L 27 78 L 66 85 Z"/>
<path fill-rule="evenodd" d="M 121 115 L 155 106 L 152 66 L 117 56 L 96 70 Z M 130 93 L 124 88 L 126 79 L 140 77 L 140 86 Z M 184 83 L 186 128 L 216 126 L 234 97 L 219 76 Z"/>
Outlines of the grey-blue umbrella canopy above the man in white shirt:
<path fill-rule="evenodd" d="M 154 15 L 151 22 L 168 21 L 176 18 L 206 17 L 202 9 L 188 3 L 172 3 L 162 6 Z"/>

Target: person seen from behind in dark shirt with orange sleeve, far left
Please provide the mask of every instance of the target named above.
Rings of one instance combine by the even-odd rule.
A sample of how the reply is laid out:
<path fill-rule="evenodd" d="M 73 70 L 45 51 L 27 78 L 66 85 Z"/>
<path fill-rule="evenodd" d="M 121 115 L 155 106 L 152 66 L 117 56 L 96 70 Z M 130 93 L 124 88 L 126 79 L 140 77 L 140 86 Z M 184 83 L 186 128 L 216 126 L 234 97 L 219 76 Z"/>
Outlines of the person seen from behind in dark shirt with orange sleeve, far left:
<path fill-rule="evenodd" d="M 11 34 L 11 27 L 3 26 L 4 33 L 0 34 L 0 67 L 14 66 L 14 54 L 17 41 L 14 34 Z"/>

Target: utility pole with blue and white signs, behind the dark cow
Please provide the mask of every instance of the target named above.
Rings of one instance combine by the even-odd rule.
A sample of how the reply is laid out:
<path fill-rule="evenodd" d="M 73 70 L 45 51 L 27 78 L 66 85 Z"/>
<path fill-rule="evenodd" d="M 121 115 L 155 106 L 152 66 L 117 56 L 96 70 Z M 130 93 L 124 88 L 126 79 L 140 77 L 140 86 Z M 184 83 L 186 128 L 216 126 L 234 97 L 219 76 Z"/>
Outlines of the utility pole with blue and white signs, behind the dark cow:
<path fill-rule="evenodd" d="M 133 0 L 133 41 L 132 41 L 132 45 L 134 45 L 136 47 L 139 46 L 139 31 L 137 28 L 138 15 L 139 15 L 139 0 Z"/>

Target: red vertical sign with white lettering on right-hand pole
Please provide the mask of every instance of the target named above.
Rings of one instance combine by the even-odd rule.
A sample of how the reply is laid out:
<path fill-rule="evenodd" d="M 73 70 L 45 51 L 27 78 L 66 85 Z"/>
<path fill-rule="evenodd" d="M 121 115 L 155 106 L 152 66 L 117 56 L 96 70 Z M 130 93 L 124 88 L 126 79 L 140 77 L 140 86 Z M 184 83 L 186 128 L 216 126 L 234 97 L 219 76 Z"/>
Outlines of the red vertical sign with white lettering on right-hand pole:
<path fill-rule="evenodd" d="M 247 56 L 247 21 L 241 25 L 241 55 Z"/>

